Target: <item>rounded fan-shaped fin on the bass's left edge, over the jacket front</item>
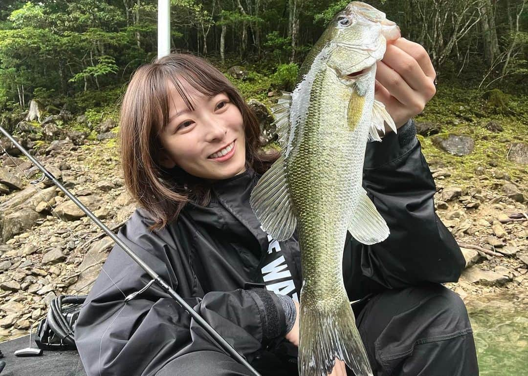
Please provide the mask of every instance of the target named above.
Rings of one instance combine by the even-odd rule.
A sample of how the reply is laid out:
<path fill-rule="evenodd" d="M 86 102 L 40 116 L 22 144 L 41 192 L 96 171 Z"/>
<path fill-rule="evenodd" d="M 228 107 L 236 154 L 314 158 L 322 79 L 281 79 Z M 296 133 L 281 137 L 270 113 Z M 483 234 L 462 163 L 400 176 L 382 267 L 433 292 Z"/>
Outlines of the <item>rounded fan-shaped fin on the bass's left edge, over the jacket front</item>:
<path fill-rule="evenodd" d="M 297 218 L 291 208 L 283 156 L 262 175 L 249 203 L 262 227 L 274 239 L 286 240 L 293 235 Z"/>

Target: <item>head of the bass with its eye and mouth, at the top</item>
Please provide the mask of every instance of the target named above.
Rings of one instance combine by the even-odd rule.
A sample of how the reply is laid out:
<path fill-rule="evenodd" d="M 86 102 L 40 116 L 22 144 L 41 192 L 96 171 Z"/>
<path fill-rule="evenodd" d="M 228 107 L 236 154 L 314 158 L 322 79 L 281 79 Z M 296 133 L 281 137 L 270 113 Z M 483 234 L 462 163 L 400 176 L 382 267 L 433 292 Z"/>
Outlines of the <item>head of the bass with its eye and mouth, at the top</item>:
<path fill-rule="evenodd" d="M 387 20 L 385 13 L 354 1 L 334 17 L 321 36 L 326 64 L 345 83 L 360 80 L 383 58 L 386 41 L 399 36 L 399 27 Z"/>

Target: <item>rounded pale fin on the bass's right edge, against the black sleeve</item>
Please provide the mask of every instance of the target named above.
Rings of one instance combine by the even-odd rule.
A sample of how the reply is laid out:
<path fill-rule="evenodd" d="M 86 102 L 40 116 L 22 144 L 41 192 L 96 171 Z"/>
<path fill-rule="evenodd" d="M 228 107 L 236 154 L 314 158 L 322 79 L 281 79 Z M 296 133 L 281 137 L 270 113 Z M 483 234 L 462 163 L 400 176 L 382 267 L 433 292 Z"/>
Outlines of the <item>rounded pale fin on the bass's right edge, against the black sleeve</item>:
<path fill-rule="evenodd" d="M 360 202 L 357 204 L 355 216 L 348 225 L 348 232 L 358 242 L 367 245 L 380 243 L 390 234 L 385 219 L 363 188 L 361 188 Z"/>

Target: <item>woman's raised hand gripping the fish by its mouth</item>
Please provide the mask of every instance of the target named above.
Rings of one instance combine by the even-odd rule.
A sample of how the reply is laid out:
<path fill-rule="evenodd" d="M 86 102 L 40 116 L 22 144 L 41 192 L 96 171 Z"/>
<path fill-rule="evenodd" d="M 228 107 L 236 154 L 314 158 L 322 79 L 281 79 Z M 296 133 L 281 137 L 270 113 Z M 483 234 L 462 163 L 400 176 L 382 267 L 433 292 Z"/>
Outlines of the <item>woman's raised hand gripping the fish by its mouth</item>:
<path fill-rule="evenodd" d="M 402 37 L 389 40 L 377 63 L 374 98 L 385 104 L 400 128 L 435 95 L 435 77 L 431 59 L 420 44 Z M 390 128 L 385 126 L 385 131 Z"/>

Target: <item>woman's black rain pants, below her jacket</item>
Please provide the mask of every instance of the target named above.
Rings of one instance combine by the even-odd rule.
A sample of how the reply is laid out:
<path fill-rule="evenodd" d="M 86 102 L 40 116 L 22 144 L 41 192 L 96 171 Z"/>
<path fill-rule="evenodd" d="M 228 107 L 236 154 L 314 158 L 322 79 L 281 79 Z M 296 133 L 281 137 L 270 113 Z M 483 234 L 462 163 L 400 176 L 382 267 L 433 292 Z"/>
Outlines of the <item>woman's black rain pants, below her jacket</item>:
<path fill-rule="evenodd" d="M 375 376 L 478 375 L 466 306 L 448 288 L 431 283 L 388 290 L 353 308 Z M 285 353 L 280 346 L 275 353 L 262 351 L 251 365 L 262 376 L 298 375 L 296 357 Z M 200 351 L 167 363 L 156 375 L 249 374 L 220 351 Z"/>

